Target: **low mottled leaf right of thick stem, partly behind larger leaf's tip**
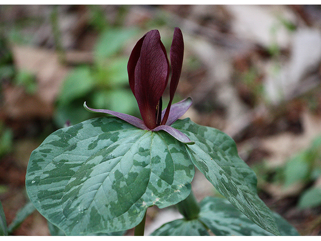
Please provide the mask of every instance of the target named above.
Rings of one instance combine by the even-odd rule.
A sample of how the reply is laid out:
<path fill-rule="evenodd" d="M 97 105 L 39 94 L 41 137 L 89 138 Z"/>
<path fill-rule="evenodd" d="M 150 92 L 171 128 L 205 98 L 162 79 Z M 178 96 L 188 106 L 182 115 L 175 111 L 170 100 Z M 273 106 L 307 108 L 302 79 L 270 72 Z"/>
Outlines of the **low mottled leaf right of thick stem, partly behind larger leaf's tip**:
<path fill-rule="evenodd" d="M 200 202 L 199 220 L 215 235 L 273 235 L 259 227 L 224 198 L 206 197 Z M 286 220 L 273 213 L 281 235 L 299 235 Z"/>

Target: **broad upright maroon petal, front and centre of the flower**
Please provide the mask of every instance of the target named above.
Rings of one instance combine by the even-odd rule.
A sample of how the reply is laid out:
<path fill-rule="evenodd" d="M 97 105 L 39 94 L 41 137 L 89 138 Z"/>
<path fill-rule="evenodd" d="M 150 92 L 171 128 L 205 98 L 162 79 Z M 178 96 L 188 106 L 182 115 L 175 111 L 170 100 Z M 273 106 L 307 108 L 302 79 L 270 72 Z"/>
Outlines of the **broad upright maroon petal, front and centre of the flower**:
<path fill-rule="evenodd" d="M 134 93 L 141 117 L 149 129 L 156 127 L 156 106 L 169 78 L 169 61 L 157 30 L 143 39 L 134 76 Z"/>

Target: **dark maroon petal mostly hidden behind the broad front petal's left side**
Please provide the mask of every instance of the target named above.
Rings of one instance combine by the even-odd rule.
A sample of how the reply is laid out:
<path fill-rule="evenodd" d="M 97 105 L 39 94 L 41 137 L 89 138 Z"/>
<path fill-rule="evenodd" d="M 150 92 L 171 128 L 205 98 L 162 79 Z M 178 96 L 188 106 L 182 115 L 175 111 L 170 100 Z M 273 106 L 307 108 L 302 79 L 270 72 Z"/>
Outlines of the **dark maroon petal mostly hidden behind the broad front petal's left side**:
<path fill-rule="evenodd" d="M 146 37 L 146 34 L 142 36 L 141 39 L 138 40 L 136 43 L 135 47 L 132 49 L 131 54 L 129 56 L 128 64 L 127 64 L 127 72 L 128 72 L 128 80 L 129 80 L 129 86 L 131 88 L 132 93 L 135 96 L 135 67 L 138 61 L 138 58 L 140 56 L 140 50 L 141 50 L 141 45 Z"/>

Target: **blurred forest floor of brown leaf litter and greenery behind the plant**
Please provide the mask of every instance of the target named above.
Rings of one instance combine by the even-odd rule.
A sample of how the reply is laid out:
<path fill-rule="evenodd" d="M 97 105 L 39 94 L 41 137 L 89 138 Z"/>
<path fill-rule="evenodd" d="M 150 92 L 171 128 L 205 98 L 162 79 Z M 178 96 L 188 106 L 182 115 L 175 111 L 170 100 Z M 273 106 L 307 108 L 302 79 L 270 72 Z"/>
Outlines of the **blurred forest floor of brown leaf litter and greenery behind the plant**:
<path fill-rule="evenodd" d="M 0 6 L 0 201 L 7 223 L 28 201 L 31 152 L 55 130 L 99 116 L 84 101 L 139 117 L 128 84 L 130 52 L 158 29 L 169 53 L 175 27 L 185 41 L 175 102 L 194 100 L 184 117 L 230 135 L 257 173 L 263 201 L 302 235 L 321 234 L 320 6 Z M 202 175 L 193 182 L 198 200 L 219 195 Z M 147 234 L 177 215 L 149 208 Z M 50 232 L 34 212 L 13 234 Z"/>

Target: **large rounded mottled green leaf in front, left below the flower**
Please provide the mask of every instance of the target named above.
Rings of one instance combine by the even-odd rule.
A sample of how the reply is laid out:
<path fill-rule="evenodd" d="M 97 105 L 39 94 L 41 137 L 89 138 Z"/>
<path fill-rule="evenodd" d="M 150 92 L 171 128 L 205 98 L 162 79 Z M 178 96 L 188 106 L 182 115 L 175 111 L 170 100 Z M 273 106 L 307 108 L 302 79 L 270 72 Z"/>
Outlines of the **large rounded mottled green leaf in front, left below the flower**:
<path fill-rule="evenodd" d="M 30 157 L 26 188 L 50 222 L 88 235 L 132 228 L 147 207 L 184 200 L 193 177 L 186 145 L 100 117 L 51 134 Z"/>

